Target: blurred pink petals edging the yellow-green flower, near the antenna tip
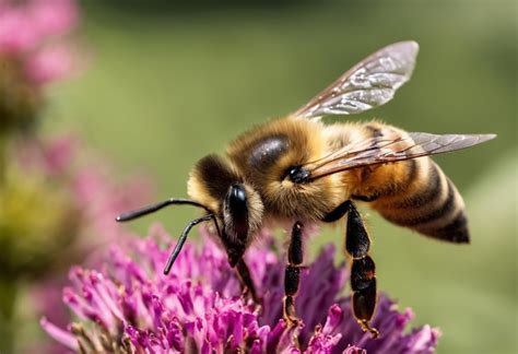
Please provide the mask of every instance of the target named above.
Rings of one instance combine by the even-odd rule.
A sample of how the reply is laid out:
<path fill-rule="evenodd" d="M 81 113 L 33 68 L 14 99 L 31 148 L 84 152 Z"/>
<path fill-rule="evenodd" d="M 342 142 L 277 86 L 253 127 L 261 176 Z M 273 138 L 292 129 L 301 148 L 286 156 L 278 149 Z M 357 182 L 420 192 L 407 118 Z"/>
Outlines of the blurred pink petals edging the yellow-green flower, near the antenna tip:
<path fill-rule="evenodd" d="M 26 174 L 59 180 L 72 197 L 70 209 L 81 213 L 83 232 L 116 237 L 128 233 L 114 216 L 121 210 L 140 206 L 151 199 L 154 188 L 143 175 L 115 180 L 110 162 L 89 149 L 74 135 L 48 141 L 22 139 L 14 143 L 12 157 Z M 99 240 L 90 240 L 97 244 Z"/>

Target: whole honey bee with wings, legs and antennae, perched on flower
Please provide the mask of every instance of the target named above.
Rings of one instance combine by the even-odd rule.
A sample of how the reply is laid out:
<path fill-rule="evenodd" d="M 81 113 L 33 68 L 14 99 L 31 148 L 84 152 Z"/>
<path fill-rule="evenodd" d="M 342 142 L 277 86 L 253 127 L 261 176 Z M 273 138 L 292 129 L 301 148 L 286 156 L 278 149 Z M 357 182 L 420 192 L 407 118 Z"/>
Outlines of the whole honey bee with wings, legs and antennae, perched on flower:
<path fill-rule="evenodd" d="M 370 326 L 377 298 L 375 263 L 356 202 L 425 236 L 469 243 L 462 197 L 428 156 L 495 138 L 407 132 L 378 121 L 321 121 L 322 116 L 358 114 L 389 102 L 410 80 L 417 51 L 411 40 L 379 49 L 293 114 L 239 135 L 225 156 L 201 158 L 187 184 L 190 199 L 168 199 L 116 220 L 133 220 L 173 204 L 203 209 L 204 214 L 185 227 L 164 273 L 169 273 L 190 229 L 213 222 L 229 264 L 255 300 L 259 298 L 243 256 L 261 228 L 284 225 L 290 241 L 283 317 L 295 324 L 304 228 L 343 219 L 353 315 L 363 331 L 377 337 Z"/>

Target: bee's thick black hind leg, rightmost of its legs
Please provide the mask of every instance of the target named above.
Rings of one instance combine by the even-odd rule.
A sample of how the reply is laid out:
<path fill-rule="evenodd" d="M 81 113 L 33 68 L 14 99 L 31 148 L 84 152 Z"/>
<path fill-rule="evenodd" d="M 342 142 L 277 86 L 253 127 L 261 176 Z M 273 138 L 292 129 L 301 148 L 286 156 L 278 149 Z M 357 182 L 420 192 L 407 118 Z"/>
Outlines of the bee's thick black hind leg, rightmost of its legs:
<path fill-rule="evenodd" d="M 349 203 L 345 235 L 345 250 L 353 258 L 351 268 L 351 288 L 353 291 L 353 311 L 357 322 L 373 338 L 379 332 L 369 326 L 376 307 L 376 275 L 375 264 L 368 256 L 370 239 L 356 206 Z"/>

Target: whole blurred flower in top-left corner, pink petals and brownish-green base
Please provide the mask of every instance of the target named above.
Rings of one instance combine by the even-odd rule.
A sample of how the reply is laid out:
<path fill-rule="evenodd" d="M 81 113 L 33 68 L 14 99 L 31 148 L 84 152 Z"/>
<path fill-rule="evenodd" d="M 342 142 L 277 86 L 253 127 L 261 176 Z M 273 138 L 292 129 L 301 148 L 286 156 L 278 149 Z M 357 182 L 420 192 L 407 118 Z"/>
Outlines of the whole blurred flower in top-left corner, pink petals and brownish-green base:
<path fill-rule="evenodd" d="M 72 67 L 63 37 L 76 23 L 74 0 L 0 0 L 1 129 L 32 126 L 40 86 Z"/>

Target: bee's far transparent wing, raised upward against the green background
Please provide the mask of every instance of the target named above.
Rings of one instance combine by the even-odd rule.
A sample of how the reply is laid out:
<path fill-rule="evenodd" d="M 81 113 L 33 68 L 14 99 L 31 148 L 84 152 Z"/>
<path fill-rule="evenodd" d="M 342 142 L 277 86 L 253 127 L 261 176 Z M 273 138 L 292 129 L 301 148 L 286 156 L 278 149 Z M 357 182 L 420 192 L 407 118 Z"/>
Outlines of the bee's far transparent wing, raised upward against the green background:
<path fill-rule="evenodd" d="M 301 118 L 351 115 L 381 106 L 412 75 L 419 45 L 399 42 L 372 54 L 295 111 Z"/>

